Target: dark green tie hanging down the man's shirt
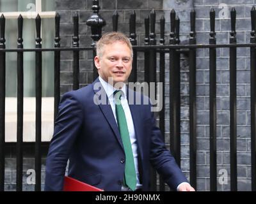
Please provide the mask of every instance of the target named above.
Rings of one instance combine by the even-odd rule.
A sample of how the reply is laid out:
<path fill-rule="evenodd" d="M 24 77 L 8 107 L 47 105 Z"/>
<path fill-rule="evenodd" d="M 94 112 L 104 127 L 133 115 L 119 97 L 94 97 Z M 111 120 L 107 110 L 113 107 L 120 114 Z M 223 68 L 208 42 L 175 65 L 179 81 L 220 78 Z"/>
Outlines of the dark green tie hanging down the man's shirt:
<path fill-rule="evenodd" d="M 136 171 L 134 165 L 134 158 L 132 154 L 132 146 L 129 136 L 129 131 L 127 128 L 127 122 L 125 119 L 124 109 L 121 104 L 121 91 L 115 91 L 115 103 L 116 103 L 116 120 L 120 135 L 122 138 L 124 152 L 125 152 L 125 170 L 124 170 L 124 184 L 128 186 L 132 191 L 136 188 Z"/>

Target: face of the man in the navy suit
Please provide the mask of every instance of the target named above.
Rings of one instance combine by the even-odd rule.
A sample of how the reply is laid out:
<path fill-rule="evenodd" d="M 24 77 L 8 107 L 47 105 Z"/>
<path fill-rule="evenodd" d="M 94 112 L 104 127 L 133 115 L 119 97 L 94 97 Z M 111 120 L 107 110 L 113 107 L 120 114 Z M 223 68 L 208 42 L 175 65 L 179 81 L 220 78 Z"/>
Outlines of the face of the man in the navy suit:
<path fill-rule="evenodd" d="M 102 56 L 96 56 L 94 62 L 101 78 L 106 82 L 109 82 L 109 77 L 113 78 L 112 85 L 117 82 L 126 82 L 131 74 L 131 50 L 122 41 L 104 45 Z"/>

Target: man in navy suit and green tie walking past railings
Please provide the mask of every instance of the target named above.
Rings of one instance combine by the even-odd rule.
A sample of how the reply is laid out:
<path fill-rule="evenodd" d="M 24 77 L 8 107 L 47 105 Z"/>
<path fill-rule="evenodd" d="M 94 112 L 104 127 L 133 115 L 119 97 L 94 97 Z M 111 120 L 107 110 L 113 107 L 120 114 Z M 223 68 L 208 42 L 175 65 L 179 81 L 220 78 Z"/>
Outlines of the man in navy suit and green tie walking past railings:
<path fill-rule="evenodd" d="M 70 177 L 104 191 L 148 191 L 150 163 L 172 189 L 195 191 L 164 147 L 150 104 L 134 103 L 149 99 L 125 85 L 132 70 L 129 39 L 122 33 L 104 34 L 94 62 L 99 78 L 61 98 L 45 190 L 63 189 L 69 159 Z"/>

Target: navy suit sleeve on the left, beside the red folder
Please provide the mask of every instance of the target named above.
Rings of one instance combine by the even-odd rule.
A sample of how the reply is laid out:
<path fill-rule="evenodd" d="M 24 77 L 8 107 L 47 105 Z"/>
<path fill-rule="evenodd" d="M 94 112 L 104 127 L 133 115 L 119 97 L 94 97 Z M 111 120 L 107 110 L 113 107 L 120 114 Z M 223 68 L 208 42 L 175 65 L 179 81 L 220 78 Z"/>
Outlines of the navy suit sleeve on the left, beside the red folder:
<path fill-rule="evenodd" d="M 54 124 L 45 168 L 45 191 L 62 191 L 68 157 L 79 135 L 83 112 L 72 92 L 64 94 Z"/>

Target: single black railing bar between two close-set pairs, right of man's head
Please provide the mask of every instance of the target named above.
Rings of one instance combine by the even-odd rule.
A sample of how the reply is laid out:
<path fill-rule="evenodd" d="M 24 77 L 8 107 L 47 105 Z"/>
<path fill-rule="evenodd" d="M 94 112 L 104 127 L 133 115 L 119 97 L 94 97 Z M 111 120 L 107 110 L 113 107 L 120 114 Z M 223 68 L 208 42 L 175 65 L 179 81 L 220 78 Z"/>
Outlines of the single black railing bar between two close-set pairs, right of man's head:
<path fill-rule="evenodd" d="M 165 18 L 164 17 L 161 17 L 160 19 L 160 40 L 159 40 L 159 44 L 160 45 L 164 45 L 164 24 L 165 24 Z M 163 104 L 163 107 L 162 107 L 162 110 L 160 111 L 159 113 L 159 128 L 161 130 L 161 133 L 163 135 L 163 140 L 165 138 L 164 136 L 164 129 L 165 129 L 165 125 L 164 125 L 164 120 L 165 120 L 165 117 L 164 117 L 164 110 L 165 110 L 165 105 L 164 105 L 164 92 L 165 92 L 165 89 L 164 89 L 164 77 L 165 77 L 165 54 L 164 54 L 164 50 L 162 50 L 163 52 L 160 52 L 160 59 L 159 59 L 159 67 L 160 67 L 160 74 L 159 74 L 159 82 L 162 83 L 163 85 L 163 96 L 160 96 L 160 99 L 162 99 L 162 104 Z M 163 177 L 160 176 L 160 179 L 159 179 L 159 190 L 160 191 L 165 191 L 165 184 L 164 184 L 164 180 L 163 180 Z"/>

